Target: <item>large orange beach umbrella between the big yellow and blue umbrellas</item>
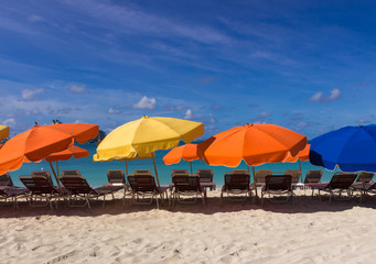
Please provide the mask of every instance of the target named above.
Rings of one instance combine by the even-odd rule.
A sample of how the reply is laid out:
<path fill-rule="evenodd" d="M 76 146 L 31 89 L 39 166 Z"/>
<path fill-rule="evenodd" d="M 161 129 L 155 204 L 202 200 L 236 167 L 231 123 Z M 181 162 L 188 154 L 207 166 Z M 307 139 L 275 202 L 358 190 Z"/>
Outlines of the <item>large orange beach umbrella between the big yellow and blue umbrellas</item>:
<path fill-rule="evenodd" d="M 307 138 L 289 129 L 276 124 L 245 124 L 200 143 L 197 153 L 210 165 L 236 167 L 244 160 L 253 166 L 255 177 L 254 166 L 283 162 L 289 155 L 296 156 L 305 145 Z"/>

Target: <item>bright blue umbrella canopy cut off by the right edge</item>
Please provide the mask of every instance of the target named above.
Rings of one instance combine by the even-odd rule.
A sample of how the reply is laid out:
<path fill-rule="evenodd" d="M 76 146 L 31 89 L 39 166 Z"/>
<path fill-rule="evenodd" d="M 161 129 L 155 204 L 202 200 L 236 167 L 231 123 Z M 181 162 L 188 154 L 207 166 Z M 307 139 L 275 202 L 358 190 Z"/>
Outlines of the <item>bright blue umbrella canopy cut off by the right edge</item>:
<path fill-rule="evenodd" d="M 376 172 L 376 125 L 345 127 L 312 140 L 310 162 L 333 170 Z"/>

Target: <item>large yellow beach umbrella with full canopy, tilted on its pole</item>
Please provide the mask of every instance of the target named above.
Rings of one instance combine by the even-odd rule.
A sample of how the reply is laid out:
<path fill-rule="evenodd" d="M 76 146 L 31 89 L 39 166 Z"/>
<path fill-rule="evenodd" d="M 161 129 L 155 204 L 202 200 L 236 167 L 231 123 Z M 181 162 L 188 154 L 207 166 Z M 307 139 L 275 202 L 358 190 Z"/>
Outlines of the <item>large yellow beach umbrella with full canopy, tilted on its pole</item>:
<path fill-rule="evenodd" d="M 98 145 L 99 160 L 127 158 L 135 152 L 152 153 L 158 150 L 170 150 L 204 133 L 204 125 L 198 122 L 174 118 L 149 118 L 128 122 L 111 131 Z M 160 186 L 155 158 L 152 157 L 158 186 Z"/>

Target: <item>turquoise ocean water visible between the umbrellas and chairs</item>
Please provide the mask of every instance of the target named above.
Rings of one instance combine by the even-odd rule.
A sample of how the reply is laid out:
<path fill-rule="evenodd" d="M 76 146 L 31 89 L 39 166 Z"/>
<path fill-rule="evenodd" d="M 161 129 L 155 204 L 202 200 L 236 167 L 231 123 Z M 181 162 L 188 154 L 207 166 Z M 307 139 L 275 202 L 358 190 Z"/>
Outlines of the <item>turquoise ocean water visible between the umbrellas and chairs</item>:
<path fill-rule="evenodd" d="M 79 145 L 79 144 L 78 144 Z M 90 152 L 90 155 L 88 157 L 83 158 L 71 158 L 68 161 L 60 161 L 58 162 L 58 169 L 78 169 L 84 176 L 87 182 L 93 187 L 99 187 L 107 183 L 107 169 L 126 169 L 125 162 L 119 161 L 112 161 L 112 162 L 103 162 L 103 163 L 95 163 L 93 162 L 93 155 L 96 153 L 96 144 L 86 143 L 83 145 L 79 145 Z M 189 162 L 180 162 L 179 164 L 173 165 L 164 165 L 163 164 L 163 156 L 169 151 L 158 151 L 155 153 L 155 164 L 158 169 L 158 175 L 161 185 L 169 185 L 171 184 L 171 172 L 173 169 L 187 169 L 190 170 L 190 163 Z M 154 167 L 152 160 L 136 160 L 127 162 L 128 164 L 128 173 L 131 174 L 135 169 L 150 169 L 154 174 Z M 56 164 L 53 163 L 55 166 Z M 310 164 L 310 162 L 301 162 L 302 166 L 302 175 L 305 177 L 305 174 L 310 169 L 322 169 L 324 172 L 322 180 L 329 182 L 332 177 L 332 175 L 337 172 L 331 172 L 326 170 L 322 167 L 313 166 Z M 217 186 L 222 186 L 224 182 L 224 174 L 226 172 L 230 172 L 234 168 L 232 167 L 225 167 L 225 166 L 210 166 L 205 162 L 200 161 L 193 161 L 192 162 L 193 172 L 196 172 L 200 168 L 211 168 L 214 170 L 214 182 L 217 184 Z M 237 169 L 247 169 L 247 165 L 241 162 L 241 164 L 236 167 Z M 255 169 L 265 168 L 265 169 L 271 169 L 273 173 L 282 173 L 286 169 L 299 169 L 299 163 L 268 163 L 260 166 L 255 167 Z M 251 169 L 251 168 L 250 168 Z M 32 172 L 37 170 L 49 170 L 51 175 L 53 175 L 52 169 L 50 167 L 50 164 L 45 161 L 42 161 L 41 163 L 24 163 L 21 168 L 10 172 L 10 175 L 13 179 L 14 185 L 22 186 L 22 183 L 19 180 L 20 175 L 30 175 Z M 251 173 L 251 170 L 250 170 Z M 53 177 L 54 178 L 54 177 Z"/>

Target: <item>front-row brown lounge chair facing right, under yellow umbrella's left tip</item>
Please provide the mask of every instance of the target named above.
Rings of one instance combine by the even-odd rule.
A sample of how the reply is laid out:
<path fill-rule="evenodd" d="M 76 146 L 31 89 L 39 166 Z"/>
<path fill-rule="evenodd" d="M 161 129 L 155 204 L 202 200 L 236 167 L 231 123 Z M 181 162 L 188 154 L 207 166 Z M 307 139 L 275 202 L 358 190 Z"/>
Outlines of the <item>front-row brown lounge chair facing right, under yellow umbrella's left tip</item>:
<path fill-rule="evenodd" d="M 63 170 L 62 175 L 58 177 L 60 182 L 64 185 L 64 187 L 69 191 L 68 197 L 68 206 L 69 207 L 90 207 L 90 198 L 98 198 L 100 196 L 104 197 L 103 207 L 105 207 L 106 195 L 111 195 L 112 199 L 114 193 L 121 189 L 122 187 L 116 186 L 114 187 L 98 187 L 93 188 L 86 179 L 80 176 L 78 170 Z M 79 204 L 79 199 L 84 200 L 84 202 Z"/>

